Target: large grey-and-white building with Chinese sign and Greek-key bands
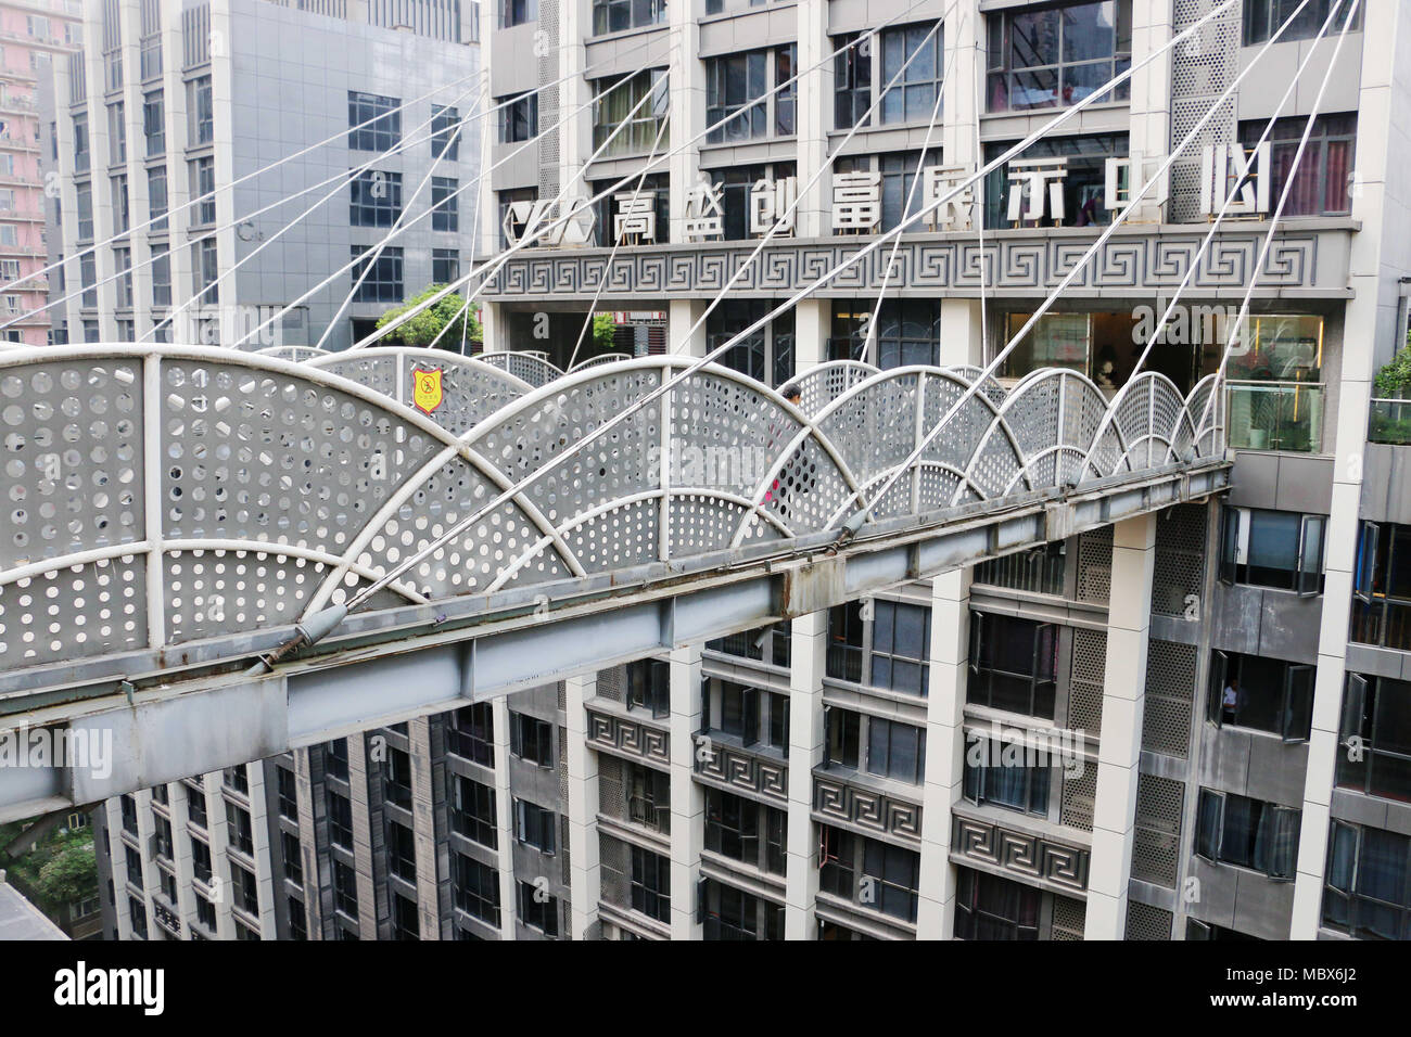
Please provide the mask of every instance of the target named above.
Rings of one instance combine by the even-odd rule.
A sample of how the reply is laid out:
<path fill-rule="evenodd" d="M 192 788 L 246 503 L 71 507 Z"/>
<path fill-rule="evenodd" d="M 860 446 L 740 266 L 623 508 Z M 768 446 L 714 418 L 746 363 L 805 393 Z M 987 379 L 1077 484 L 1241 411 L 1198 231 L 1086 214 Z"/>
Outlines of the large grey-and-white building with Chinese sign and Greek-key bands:
<path fill-rule="evenodd" d="M 722 363 L 776 387 L 830 360 L 983 365 L 1132 203 L 996 375 L 1062 365 L 1113 395 L 1180 289 L 1150 365 L 1188 389 L 1253 282 L 1232 488 L 301 749 L 248 792 L 206 776 L 205 821 L 181 783 L 110 801 L 116 931 L 161 909 L 323 938 L 1411 937 L 1411 436 L 1373 389 L 1407 340 L 1411 24 L 1363 4 L 1319 89 L 1333 7 L 1274 38 L 1288 6 L 1237 0 L 1147 62 L 1216 4 L 501 3 L 483 251 L 605 192 L 583 240 L 529 244 L 487 291 L 487 348 L 560 365 L 590 309 L 666 310 L 667 347 L 704 356 L 1140 65 Z M 1230 190 L 1239 219 L 1182 288 Z M 227 875 L 238 896 L 210 902 Z"/>

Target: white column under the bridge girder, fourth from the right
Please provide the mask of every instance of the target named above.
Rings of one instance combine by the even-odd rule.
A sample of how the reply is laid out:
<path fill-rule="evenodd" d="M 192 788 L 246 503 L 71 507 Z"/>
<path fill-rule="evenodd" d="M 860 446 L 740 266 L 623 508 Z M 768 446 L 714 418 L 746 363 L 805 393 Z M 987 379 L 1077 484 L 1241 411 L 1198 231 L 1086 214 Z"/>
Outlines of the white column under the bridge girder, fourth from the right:
<path fill-rule="evenodd" d="M 700 940 L 696 882 L 706 838 L 706 796 L 696 783 L 696 732 L 701 728 L 701 646 L 669 656 L 672 673 L 672 940 Z"/>

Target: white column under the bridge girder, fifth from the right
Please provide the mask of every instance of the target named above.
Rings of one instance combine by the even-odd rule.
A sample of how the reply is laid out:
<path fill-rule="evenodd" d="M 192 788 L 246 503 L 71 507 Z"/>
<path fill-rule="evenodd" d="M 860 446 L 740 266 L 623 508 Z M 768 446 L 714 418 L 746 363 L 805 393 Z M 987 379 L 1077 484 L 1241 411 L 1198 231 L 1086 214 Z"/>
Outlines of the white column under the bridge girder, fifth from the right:
<path fill-rule="evenodd" d="M 598 691 L 597 674 L 570 677 L 564 683 L 563 712 L 567 736 L 569 801 L 569 920 L 574 940 L 587 940 L 598 920 L 602 873 L 598 868 L 598 755 L 588 748 L 587 712 L 583 704 Z"/>

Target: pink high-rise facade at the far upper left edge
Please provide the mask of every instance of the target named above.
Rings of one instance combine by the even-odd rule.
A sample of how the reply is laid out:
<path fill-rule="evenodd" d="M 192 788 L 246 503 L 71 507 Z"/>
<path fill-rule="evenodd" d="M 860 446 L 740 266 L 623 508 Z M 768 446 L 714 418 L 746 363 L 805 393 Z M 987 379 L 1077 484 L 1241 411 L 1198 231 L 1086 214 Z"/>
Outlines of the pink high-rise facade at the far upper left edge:
<path fill-rule="evenodd" d="M 48 279 L 32 277 L 47 262 L 45 172 L 54 169 L 41 152 L 40 86 L 80 32 L 79 0 L 0 4 L 0 312 L 11 320 L 40 310 L 4 330 L 11 343 L 49 341 Z"/>

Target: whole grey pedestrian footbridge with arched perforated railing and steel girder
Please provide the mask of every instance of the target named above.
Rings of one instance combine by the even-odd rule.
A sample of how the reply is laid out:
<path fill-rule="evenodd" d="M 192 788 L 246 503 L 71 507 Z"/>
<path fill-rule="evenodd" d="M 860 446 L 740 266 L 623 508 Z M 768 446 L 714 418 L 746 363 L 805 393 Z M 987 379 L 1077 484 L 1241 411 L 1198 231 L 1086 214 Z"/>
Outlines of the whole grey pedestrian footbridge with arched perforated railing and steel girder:
<path fill-rule="evenodd" d="M 1147 372 L 1109 401 L 1067 370 L 1006 388 L 975 387 L 975 368 L 852 361 L 809 371 L 797 408 L 703 367 L 556 463 L 690 364 L 0 354 L 0 739 L 113 744 L 107 773 L 0 768 L 0 820 L 814 612 L 1228 485 L 1213 375 L 1182 396 Z M 330 611 L 333 629 L 301 643 Z"/>

